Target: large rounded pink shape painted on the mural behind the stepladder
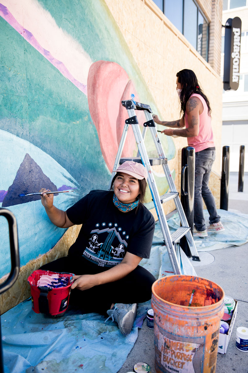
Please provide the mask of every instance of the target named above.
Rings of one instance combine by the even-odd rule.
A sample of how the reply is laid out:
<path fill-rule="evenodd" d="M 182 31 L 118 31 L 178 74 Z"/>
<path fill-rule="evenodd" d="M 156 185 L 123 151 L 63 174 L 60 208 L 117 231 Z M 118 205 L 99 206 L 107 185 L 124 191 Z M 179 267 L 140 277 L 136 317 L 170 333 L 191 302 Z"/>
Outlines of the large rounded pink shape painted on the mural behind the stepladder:
<path fill-rule="evenodd" d="M 110 172 L 113 170 L 121 129 L 128 113 L 121 100 L 126 96 L 129 77 L 116 62 L 97 61 L 90 66 L 87 81 L 88 106 L 96 126 L 103 158 Z M 128 87 L 131 87 L 129 85 Z M 130 95 L 129 95 L 130 98 Z M 131 130 L 131 129 L 130 129 Z M 125 153 L 135 150 L 134 137 L 128 138 Z"/>

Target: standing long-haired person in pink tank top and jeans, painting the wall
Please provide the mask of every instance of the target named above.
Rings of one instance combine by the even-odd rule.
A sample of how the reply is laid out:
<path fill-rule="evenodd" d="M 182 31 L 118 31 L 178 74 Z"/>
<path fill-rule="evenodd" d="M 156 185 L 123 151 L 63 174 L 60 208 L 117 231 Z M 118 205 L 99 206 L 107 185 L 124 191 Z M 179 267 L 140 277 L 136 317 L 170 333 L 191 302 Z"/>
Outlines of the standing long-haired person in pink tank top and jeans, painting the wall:
<path fill-rule="evenodd" d="M 157 115 L 153 115 L 153 119 L 157 124 L 170 127 L 161 133 L 173 137 L 187 137 L 188 145 L 195 148 L 194 236 L 206 237 L 207 232 L 219 233 L 225 230 L 208 186 L 215 160 L 211 109 L 209 100 L 201 90 L 196 74 L 192 70 L 183 69 L 176 76 L 182 117 L 170 122 L 159 120 Z M 206 228 L 203 216 L 202 198 L 209 213 L 208 228 Z"/>

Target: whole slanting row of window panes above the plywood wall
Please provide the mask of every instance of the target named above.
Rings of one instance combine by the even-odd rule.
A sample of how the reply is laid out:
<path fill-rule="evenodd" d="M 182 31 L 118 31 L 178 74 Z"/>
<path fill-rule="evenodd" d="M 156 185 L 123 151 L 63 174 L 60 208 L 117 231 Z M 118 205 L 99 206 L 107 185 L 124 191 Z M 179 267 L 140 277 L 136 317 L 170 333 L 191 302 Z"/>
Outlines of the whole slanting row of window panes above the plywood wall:
<path fill-rule="evenodd" d="M 153 0 L 174 26 L 208 60 L 209 24 L 194 0 Z M 229 0 L 230 1 L 230 0 Z M 232 0 L 234 1 L 234 0 Z M 241 1 L 241 0 L 239 0 Z M 248 0 L 245 0 L 248 1 Z M 176 11 L 175 11 L 176 9 Z"/>

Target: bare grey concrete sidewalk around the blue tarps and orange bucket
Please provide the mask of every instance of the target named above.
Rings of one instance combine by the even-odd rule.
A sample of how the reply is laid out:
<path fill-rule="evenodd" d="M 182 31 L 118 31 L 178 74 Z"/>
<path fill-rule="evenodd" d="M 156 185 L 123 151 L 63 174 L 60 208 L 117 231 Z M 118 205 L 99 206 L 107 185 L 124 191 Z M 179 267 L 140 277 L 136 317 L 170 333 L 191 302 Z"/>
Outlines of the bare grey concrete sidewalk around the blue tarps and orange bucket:
<path fill-rule="evenodd" d="M 238 192 L 238 173 L 230 174 L 228 210 L 248 214 L 248 175 L 244 178 L 244 191 Z M 248 352 L 241 352 L 235 346 L 237 327 L 248 327 L 248 243 L 207 252 L 207 255 L 212 256 L 210 264 L 192 261 L 197 276 L 216 282 L 226 295 L 238 300 L 232 335 L 226 354 L 218 353 L 216 373 L 248 373 Z M 154 333 L 144 320 L 135 345 L 118 373 L 132 372 L 138 362 L 149 364 L 151 373 L 155 373 L 154 356 Z"/>

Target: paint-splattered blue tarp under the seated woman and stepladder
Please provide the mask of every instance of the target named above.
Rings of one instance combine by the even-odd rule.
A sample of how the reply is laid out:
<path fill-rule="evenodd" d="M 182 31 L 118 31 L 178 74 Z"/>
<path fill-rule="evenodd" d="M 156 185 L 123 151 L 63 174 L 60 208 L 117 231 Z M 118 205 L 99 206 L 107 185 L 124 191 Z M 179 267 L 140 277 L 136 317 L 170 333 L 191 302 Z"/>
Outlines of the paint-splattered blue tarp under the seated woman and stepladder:
<path fill-rule="evenodd" d="M 151 257 L 141 261 L 156 278 L 173 275 L 161 234 L 157 223 Z M 177 258 L 182 273 L 196 275 L 182 250 L 177 250 Z M 132 332 L 123 336 L 116 323 L 104 324 L 106 317 L 99 314 L 69 310 L 63 317 L 50 318 L 34 313 L 26 300 L 1 316 L 4 373 L 116 373 L 149 308 L 150 302 L 139 304 Z"/>

